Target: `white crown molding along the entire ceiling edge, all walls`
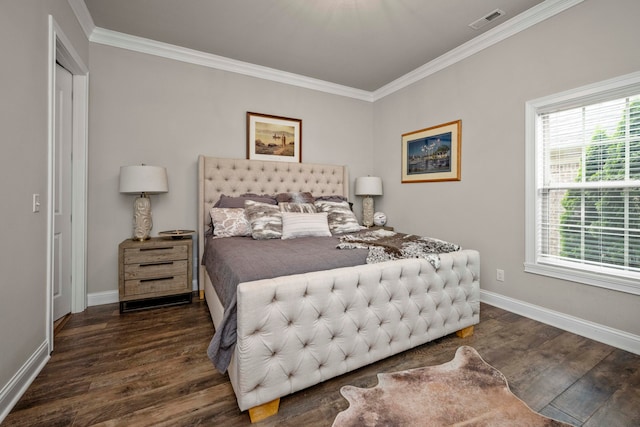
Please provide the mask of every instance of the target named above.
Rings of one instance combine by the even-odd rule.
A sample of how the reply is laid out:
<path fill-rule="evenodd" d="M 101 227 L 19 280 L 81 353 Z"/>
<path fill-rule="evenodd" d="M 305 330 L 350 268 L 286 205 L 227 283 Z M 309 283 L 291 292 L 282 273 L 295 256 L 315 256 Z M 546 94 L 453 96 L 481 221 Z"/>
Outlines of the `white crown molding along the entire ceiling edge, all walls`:
<path fill-rule="evenodd" d="M 501 25 L 479 35 L 463 45 L 445 53 L 392 81 L 391 83 L 369 92 L 324 80 L 314 79 L 299 74 L 263 67 L 248 62 L 237 61 L 219 55 L 205 53 L 193 49 L 187 49 L 168 43 L 157 42 L 142 37 L 119 33 L 104 28 L 96 27 L 84 0 L 68 0 L 80 25 L 88 34 L 89 41 L 107 46 L 118 47 L 149 55 L 160 56 L 176 61 L 229 71 L 265 80 L 271 80 L 292 86 L 317 90 L 333 95 L 346 96 L 361 101 L 374 102 L 394 92 L 399 91 L 425 77 L 443 70 L 471 55 L 480 52 L 502 40 L 511 37 L 527 28 L 555 16 L 584 0 L 545 0 L 533 8 L 511 18 Z"/>

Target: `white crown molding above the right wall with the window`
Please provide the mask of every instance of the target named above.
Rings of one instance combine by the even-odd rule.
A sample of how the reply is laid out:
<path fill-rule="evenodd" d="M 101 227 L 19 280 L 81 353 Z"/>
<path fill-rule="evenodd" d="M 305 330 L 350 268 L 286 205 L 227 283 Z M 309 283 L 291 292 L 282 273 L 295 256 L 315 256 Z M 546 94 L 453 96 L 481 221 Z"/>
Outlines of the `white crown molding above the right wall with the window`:
<path fill-rule="evenodd" d="M 439 56 L 416 68 L 413 71 L 405 74 L 404 76 L 392 81 L 391 83 L 377 89 L 372 93 L 373 100 L 377 101 L 384 98 L 387 95 L 391 95 L 394 92 L 399 91 L 417 81 L 424 79 L 440 70 L 443 70 L 450 65 L 462 61 L 486 49 L 494 44 L 501 42 L 502 40 L 509 38 L 527 28 L 536 25 L 552 16 L 563 12 L 570 7 L 573 7 L 584 0 L 546 0 L 531 9 L 522 12 L 521 14 L 509 19 L 508 21 L 498 25 L 495 28 L 469 40 L 468 42 L 458 46 L 455 49 Z"/>

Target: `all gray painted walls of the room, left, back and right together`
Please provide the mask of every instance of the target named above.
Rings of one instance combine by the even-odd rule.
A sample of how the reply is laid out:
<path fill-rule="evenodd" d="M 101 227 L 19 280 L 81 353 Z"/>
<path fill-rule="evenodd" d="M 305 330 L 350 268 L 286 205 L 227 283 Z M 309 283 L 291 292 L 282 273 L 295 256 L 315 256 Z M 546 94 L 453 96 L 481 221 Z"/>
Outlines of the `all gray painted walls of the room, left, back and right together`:
<path fill-rule="evenodd" d="M 524 103 L 640 69 L 640 2 L 586 0 L 370 104 L 90 45 L 66 0 L 9 0 L 0 2 L 0 52 L 10 65 L 0 71 L 0 389 L 44 342 L 48 321 L 49 13 L 91 69 L 89 293 L 117 289 L 117 245 L 131 233 L 133 200 L 118 193 L 119 167 L 166 166 L 170 192 L 152 196 L 154 234 L 195 229 L 197 155 L 245 157 L 245 113 L 254 111 L 303 120 L 303 161 L 347 164 L 352 180 L 382 176 L 376 206 L 390 225 L 479 249 L 483 289 L 640 335 L 640 297 L 523 272 Z M 462 181 L 401 184 L 400 136 L 456 119 Z M 43 196 L 39 214 L 33 193 Z"/>

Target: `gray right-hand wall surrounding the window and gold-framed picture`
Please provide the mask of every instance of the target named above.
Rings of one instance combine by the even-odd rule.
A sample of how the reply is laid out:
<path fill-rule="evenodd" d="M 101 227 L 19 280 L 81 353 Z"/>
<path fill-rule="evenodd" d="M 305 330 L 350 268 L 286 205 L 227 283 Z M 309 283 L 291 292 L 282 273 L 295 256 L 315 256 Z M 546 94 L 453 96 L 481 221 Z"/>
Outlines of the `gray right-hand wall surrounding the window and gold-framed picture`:
<path fill-rule="evenodd" d="M 640 335 L 639 296 L 523 271 L 525 102 L 640 70 L 639 16 L 637 0 L 586 0 L 376 102 L 389 225 L 479 249 L 484 290 Z M 457 119 L 462 181 L 401 184 L 401 135 Z"/>

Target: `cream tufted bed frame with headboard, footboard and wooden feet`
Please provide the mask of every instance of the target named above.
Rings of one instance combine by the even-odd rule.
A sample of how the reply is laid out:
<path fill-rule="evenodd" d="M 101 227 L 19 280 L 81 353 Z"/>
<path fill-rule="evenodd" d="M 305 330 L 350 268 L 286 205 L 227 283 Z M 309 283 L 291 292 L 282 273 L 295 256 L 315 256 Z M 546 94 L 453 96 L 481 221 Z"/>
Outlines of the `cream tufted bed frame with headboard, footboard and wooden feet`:
<path fill-rule="evenodd" d="M 339 165 L 200 155 L 198 180 L 200 255 L 222 195 L 349 197 Z M 441 254 L 437 269 L 400 259 L 239 283 L 227 369 L 238 407 L 256 422 L 277 413 L 281 397 L 451 333 L 472 334 L 479 278 L 479 253 L 462 249 Z M 225 309 L 203 266 L 199 288 L 218 330 Z"/>

